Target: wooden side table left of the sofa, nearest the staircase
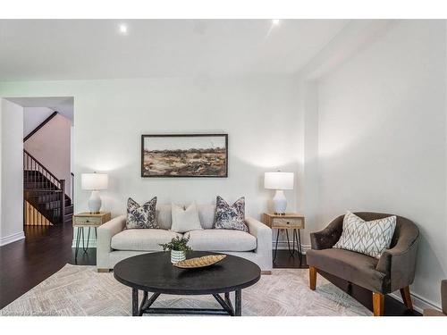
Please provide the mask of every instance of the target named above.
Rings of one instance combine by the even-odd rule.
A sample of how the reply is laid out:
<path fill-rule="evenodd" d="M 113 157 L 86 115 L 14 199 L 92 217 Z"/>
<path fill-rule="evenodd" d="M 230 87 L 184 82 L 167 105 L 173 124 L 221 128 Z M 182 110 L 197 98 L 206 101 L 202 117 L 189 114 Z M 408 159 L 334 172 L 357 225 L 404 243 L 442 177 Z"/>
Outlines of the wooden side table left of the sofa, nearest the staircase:
<path fill-rule="evenodd" d="M 110 221 L 110 212 L 99 212 L 93 214 L 90 212 L 84 212 L 73 215 L 73 228 L 78 228 L 76 234 L 76 249 L 74 251 L 74 262 L 78 261 L 78 250 L 80 248 L 80 237 L 82 236 L 82 250 L 84 253 L 89 249 L 90 229 L 95 228 L 95 237 L 97 238 L 97 227 L 101 224 Z M 87 237 L 87 247 L 84 246 L 84 228 L 89 228 L 89 235 Z"/>

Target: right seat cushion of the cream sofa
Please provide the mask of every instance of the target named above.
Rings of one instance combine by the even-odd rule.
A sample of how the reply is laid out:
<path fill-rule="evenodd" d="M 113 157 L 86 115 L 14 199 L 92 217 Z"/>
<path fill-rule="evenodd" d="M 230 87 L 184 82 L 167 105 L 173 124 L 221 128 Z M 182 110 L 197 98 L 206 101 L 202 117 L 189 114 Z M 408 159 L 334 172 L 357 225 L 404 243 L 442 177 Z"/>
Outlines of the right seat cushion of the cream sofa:
<path fill-rule="evenodd" d="M 197 251 L 252 251 L 257 247 L 256 238 L 241 230 L 193 230 L 185 237 Z"/>

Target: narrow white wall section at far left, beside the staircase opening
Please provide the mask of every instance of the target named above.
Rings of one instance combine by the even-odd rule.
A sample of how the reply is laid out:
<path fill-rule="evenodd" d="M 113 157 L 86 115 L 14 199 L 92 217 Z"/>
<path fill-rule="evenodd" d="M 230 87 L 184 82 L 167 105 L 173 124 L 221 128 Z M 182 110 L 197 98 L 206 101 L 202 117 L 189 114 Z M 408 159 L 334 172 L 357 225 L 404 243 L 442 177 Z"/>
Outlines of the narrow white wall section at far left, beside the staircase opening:
<path fill-rule="evenodd" d="M 0 98 L 0 246 L 23 234 L 23 108 Z"/>

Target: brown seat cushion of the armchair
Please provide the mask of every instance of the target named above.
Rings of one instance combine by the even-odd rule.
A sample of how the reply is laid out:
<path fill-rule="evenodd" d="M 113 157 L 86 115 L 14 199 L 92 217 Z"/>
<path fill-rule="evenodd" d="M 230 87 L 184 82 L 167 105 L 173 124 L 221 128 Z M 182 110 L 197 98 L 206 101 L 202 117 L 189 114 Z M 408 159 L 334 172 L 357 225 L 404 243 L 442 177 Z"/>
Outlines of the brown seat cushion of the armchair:
<path fill-rule="evenodd" d="M 308 250 L 306 260 L 309 266 L 318 270 L 355 282 L 375 292 L 384 291 L 385 274 L 375 270 L 378 260 L 374 257 L 344 249 L 328 248 Z"/>

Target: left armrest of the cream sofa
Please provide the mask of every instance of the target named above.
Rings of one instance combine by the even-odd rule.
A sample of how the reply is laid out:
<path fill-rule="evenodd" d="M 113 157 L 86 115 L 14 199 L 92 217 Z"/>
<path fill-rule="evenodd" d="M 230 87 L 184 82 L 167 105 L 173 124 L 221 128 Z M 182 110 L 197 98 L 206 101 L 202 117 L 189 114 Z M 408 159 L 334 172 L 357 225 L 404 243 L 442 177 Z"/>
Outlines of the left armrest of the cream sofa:
<path fill-rule="evenodd" d="M 97 228 L 97 268 L 108 268 L 108 254 L 112 251 L 114 235 L 126 226 L 126 215 L 120 215 Z"/>

